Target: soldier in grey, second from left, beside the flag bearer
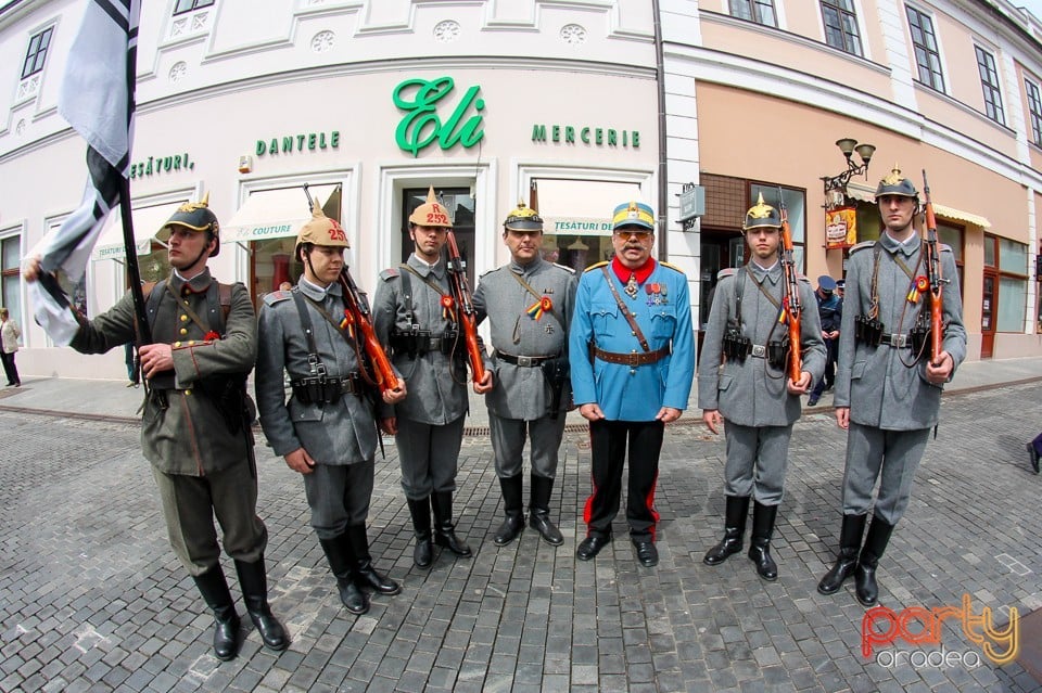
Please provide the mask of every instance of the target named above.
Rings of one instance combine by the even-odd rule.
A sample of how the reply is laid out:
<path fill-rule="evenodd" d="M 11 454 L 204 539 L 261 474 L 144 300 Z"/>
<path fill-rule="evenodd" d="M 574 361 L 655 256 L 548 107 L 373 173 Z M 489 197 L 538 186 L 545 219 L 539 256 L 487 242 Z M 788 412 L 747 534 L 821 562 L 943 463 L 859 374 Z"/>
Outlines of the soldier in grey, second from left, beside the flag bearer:
<path fill-rule="evenodd" d="M 350 247 L 344 230 L 318 204 L 296 238 L 304 274 L 295 288 L 264 298 L 257 348 L 257 407 L 276 454 L 304 476 L 312 526 L 352 614 L 369 611 L 366 590 L 397 594 L 402 588 L 372 565 L 366 518 L 372 496 L 376 419 L 358 362 L 361 346 L 351 328 L 338 282 Z M 293 395 L 285 401 L 283 373 Z M 405 398 L 405 386 L 383 401 Z"/>

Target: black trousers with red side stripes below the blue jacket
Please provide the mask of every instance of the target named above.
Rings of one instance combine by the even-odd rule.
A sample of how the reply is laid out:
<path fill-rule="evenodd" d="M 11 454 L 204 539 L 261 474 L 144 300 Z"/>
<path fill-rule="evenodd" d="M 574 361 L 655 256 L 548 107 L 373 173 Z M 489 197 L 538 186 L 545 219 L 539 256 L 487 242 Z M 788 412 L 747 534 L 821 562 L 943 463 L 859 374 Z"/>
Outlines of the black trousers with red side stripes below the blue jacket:
<path fill-rule="evenodd" d="M 611 522 L 619 513 L 622 469 L 630 453 L 626 522 L 630 536 L 655 541 L 659 513 L 655 510 L 655 485 L 659 478 L 659 453 L 665 424 L 661 421 L 596 421 L 589 424 L 593 453 L 593 493 L 586 499 L 583 519 L 588 536 L 611 536 Z"/>

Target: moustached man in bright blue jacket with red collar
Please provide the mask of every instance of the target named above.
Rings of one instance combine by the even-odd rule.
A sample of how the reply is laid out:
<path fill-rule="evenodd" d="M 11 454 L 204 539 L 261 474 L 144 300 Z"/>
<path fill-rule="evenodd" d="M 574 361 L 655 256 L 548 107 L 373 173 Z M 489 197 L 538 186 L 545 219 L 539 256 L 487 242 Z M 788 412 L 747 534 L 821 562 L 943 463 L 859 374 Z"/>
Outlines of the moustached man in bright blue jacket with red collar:
<path fill-rule="evenodd" d="M 626 519 L 637 560 L 659 562 L 655 484 L 665 424 L 687 408 L 695 342 L 687 278 L 651 257 L 655 215 L 639 202 L 615 207 L 615 256 L 579 282 L 569 333 L 572 392 L 589 421 L 593 492 L 583 518 L 586 539 L 575 555 L 594 559 L 611 541 L 622 470 L 630 451 Z"/>

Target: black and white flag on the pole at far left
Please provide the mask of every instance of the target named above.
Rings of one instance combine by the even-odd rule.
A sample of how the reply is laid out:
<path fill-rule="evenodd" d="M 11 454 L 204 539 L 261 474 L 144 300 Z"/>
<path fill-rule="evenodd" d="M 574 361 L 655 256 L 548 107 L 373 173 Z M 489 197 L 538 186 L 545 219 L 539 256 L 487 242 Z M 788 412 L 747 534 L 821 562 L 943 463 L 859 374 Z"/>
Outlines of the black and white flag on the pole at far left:
<path fill-rule="evenodd" d="M 28 285 L 36 321 L 60 345 L 72 342 L 78 325 L 50 273 L 73 284 L 84 277 L 130 172 L 140 15 L 141 0 L 90 0 L 68 54 L 58 111 L 87 140 L 89 177 L 79 208 L 33 249 L 43 274 Z"/>

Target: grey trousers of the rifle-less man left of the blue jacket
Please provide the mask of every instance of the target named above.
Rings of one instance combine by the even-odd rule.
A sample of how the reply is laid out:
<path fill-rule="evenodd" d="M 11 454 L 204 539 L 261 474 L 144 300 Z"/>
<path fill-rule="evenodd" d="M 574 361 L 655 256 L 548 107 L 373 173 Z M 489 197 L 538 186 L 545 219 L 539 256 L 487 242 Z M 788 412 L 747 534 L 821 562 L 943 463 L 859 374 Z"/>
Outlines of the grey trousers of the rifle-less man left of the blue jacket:
<path fill-rule="evenodd" d="M 496 475 L 499 478 L 510 478 L 522 473 L 524 462 L 521 454 L 528 437 L 532 474 L 550 479 L 557 476 L 557 452 L 561 447 L 561 438 L 564 437 L 564 414 L 562 411 L 556 419 L 547 415 L 535 421 L 524 421 L 500 419 L 488 412 Z"/>

